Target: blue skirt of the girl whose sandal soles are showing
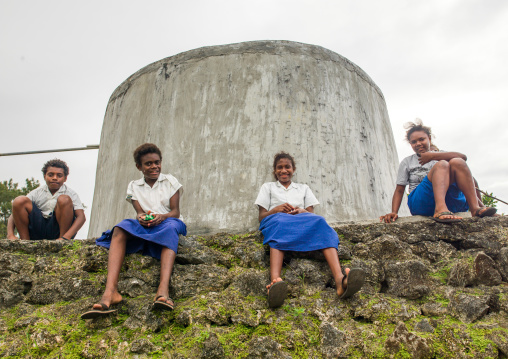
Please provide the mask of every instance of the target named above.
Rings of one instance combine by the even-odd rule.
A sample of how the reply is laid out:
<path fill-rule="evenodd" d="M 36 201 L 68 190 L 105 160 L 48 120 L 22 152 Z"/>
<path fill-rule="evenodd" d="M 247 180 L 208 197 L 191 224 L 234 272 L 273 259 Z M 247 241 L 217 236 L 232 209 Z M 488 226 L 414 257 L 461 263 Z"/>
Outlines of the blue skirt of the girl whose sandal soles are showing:
<path fill-rule="evenodd" d="M 281 251 L 310 252 L 337 248 L 339 236 L 325 219 L 314 213 L 276 213 L 259 224 L 263 244 Z"/>

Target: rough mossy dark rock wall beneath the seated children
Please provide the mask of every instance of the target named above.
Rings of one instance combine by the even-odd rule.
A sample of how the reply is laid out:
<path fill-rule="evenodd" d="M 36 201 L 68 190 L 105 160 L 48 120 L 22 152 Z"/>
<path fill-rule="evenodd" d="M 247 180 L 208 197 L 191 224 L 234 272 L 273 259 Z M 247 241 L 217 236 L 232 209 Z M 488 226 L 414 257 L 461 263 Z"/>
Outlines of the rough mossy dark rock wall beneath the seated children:
<path fill-rule="evenodd" d="M 0 240 L 0 356 L 12 358 L 506 358 L 508 217 L 453 225 L 343 223 L 339 300 L 321 253 L 288 253 L 289 296 L 269 309 L 259 232 L 181 238 L 173 312 L 154 312 L 156 260 L 128 256 L 118 313 L 80 320 L 106 280 L 86 241 Z"/>

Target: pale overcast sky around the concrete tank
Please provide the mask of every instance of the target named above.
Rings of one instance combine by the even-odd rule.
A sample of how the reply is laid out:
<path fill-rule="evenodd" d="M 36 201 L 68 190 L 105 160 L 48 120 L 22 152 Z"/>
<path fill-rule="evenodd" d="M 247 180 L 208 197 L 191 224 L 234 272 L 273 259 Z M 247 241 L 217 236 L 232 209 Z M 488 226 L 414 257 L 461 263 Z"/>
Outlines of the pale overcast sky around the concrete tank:
<path fill-rule="evenodd" d="M 98 144 L 108 99 L 131 74 L 253 40 L 348 58 L 383 91 L 399 160 L 412 154 L 403 124 L 419 117 L 441 149 L 468 156 L 482 189 L 508 201 L 505 0 L 0 0 L 0 153 Z M 42 164 L 58 156 L 89 218 L 97 154 L 0 157 L 0 180 L 42 181 Z M 88 222 L 78 237 L 87 232 Z"/>

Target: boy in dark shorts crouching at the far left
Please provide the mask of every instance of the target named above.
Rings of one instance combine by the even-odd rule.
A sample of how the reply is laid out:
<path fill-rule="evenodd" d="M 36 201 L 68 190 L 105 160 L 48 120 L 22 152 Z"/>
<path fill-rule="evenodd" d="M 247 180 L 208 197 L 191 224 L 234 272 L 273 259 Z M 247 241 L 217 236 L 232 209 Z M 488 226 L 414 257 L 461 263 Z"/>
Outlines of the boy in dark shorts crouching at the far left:
<path fill-rule="evenodd" d="M 7 238 L 70 239 L 86 221 L 83 204 L 76 192 L 65 185 L 69 175 L 67 164 L 58 159 L 42 167 L 46 184 L 26 196 L 12 201 L 12 214 L 7 221 Z"/>

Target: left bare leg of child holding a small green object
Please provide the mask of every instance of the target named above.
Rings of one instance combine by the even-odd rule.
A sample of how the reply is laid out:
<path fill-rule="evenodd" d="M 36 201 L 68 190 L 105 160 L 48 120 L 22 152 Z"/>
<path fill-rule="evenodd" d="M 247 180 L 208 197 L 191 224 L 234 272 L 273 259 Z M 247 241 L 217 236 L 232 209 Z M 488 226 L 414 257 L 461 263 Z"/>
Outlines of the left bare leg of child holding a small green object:
<path fill-rule="evenodd" d="M 123 229 L 115 227 L 108 255 L 108 278 L 106 289 L 101 298 L 101 303 L 110 306 L 119 303 L 122 296 L 118 292 L 118 278 L 125 258 L 125 247 L 127 245 L 128 233 Z M 94 304 L 93 309 L 101 310 L 100 304 Z"/>

